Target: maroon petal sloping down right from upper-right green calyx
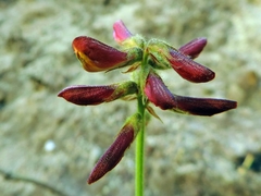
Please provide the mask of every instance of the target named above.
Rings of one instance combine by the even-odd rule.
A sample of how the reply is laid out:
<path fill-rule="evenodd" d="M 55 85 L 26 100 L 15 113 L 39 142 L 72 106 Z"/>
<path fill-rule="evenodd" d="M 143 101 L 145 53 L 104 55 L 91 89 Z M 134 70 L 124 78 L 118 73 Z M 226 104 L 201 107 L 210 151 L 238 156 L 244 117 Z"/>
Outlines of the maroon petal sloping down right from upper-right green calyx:
<path fill-rule="evenodd" d="M 192 61 L 177 50 L 170 49 L 169 59 L 172 68 L 185 79 L 194 83 L 206 83 L 214 78 L 215 74 L 210 69 Z"/>

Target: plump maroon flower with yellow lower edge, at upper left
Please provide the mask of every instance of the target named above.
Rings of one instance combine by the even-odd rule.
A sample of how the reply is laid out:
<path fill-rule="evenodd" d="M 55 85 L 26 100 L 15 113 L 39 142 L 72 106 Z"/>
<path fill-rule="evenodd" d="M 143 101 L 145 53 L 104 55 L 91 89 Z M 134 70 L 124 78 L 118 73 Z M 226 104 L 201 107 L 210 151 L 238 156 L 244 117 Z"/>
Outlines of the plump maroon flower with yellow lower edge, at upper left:
<path fill-rule="evenodd" d="M 88 72 L 100 72 L 133 64 L 141 58 L 137 49 L 120 51 L 91 37 L 79 36 L 73 40 L 73 49 Z"/>

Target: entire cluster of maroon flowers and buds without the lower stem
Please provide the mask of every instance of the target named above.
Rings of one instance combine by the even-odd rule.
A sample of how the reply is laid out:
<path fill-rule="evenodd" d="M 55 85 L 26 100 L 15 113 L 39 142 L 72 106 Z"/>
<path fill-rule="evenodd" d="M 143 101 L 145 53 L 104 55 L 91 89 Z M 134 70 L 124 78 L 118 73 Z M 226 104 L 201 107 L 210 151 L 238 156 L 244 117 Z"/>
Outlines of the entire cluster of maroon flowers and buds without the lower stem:
<path fill-rule="evenodd" d="M 192 83 L 206 83 L 214 78 L 210 69 L 194 61 L 207 45 L 206 38 L 196 38 L 175 49 L 158 39 L 145 40 L 133 35 L 122 21 L 113 25 L 113 37 L 121 50 L 112 48 L 90 37 L 80 36 L 73 40 L 76 57 L 87 72 L 111 71 L 129 66 L 126 73 L 136 74 L 133 81 L 103 86 L 76 85 L 59 93 L 70 102 L 79 106 L 100 105 L 126 96 L 142 100 L 142 106 L 158 117 L 149 103 L 179 113 L 213 115 L 237 107 L 237 102 L 226 99 L 194 98 L 172 94 L 163 83 L 157 70 L 173 69 L 183 78 Z M 116 139 L 97 162 L 89 175 L 94 183 L 112 170 L 130 146 L 142 124 L 142 115 L 137 111 L 129 117 L 121 128 Z"/>

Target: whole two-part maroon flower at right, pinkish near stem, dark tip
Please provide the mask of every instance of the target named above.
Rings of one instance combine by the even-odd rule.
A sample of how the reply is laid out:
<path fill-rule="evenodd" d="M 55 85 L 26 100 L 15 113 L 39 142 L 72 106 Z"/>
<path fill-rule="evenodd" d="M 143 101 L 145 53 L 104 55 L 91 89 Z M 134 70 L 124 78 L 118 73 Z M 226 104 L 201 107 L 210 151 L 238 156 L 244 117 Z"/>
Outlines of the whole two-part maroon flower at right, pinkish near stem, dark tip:
<path fill-rule="evenodd" d="M 194 115 L 213 115 L 237 107 L 236 101 L 213 98 L 194 98 L 173 95 L 161 77 L 151 71 L 146 79 L 148 100 L 162 110 Z"/>

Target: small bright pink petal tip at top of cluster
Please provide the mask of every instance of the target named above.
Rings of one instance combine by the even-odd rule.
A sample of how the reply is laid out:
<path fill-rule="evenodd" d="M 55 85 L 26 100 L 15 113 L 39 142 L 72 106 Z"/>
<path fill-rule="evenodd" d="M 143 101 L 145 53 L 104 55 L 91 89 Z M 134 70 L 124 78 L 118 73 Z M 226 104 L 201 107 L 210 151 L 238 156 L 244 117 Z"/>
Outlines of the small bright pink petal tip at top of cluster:
<path fill-rule="evenodd" d="M 132 37 L 132 33 L 127 29 L 124 23 L 119 20 L 113 24 L 113 37 L 117 42 L 122 42 L 125 39 Z"/>

